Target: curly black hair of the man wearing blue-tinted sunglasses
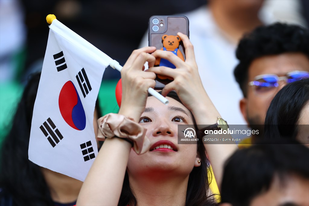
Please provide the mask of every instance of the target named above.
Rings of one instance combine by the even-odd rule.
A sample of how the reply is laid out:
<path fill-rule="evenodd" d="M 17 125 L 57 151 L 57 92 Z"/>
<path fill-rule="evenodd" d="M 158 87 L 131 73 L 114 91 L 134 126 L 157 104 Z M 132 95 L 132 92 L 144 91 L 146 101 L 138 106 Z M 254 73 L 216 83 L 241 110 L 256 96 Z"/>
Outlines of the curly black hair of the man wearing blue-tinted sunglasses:
<path fill-rule="evenodd" d="M 260 26 L 245 34 L 239 41 L 236 57 L 239 59 L 234 70 L 243 96 L 247 96 L 248 70 L 253 60 L 268 55 L 299 52 L 309 58 L 309 32 L 298 25 L 274 23 Z"/>

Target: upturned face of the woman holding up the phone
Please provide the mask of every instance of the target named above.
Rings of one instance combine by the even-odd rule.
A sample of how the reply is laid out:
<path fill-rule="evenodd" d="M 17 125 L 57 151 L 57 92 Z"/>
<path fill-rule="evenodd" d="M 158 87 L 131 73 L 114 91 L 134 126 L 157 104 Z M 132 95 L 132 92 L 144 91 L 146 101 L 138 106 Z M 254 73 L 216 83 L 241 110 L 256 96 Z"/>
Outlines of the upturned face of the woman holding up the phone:
<path fill-rule="evenodd" d="M 140 124 L 147 129 L 146 136 L 151 147 L 142 155 L 131 150 L 129 175 L 151 175 L 166 171 L 171 171 L 174 175 L 188 175 L 195 164 L 197 166 L 197 145 L 177 144 L 177 125 L 193 124 L 193 117 L 184 105 L 175 99 L 167 99 L 169 104 L 164 105 L 155 97 L 148 97 Z"/>

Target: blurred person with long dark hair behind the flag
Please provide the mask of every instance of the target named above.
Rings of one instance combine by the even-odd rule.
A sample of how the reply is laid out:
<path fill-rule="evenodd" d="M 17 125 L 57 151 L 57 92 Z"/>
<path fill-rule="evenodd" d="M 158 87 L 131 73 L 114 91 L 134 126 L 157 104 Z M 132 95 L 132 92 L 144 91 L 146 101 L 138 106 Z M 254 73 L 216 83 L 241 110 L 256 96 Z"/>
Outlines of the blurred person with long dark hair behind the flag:
<path fill-rule="evenodd" d="M 40 75 L 33 74 L 28 81 L 13 118 L 11 131 L 1 144 L 1 206 L 72 206 L 76 204 L 83 184 L 77 179 L 40 167 L 28 159 L 32 112 Z M 98 131 L 96 120 L 100 115 L 99 107 L 96 106 L 95 134 Z"/>

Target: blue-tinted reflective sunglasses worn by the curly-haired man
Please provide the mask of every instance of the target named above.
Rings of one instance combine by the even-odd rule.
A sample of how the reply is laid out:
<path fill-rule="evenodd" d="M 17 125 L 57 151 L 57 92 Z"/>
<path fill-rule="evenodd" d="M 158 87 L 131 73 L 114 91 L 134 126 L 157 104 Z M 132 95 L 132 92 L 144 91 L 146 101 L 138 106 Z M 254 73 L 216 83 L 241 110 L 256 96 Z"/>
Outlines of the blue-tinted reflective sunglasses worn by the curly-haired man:
<path fill-rule="evenodd" d="M 262 93 L 278 87 L 280 81 L 291 83 L 306 78 L 309 78 L 309 72 L 307 71 L 292 71 L 283 77 L 279 77 L 276 74 L 262 74 L 256 76 L 254 81 L 249 82 L 248 85 L 253 86 L 256 92 Z"/>

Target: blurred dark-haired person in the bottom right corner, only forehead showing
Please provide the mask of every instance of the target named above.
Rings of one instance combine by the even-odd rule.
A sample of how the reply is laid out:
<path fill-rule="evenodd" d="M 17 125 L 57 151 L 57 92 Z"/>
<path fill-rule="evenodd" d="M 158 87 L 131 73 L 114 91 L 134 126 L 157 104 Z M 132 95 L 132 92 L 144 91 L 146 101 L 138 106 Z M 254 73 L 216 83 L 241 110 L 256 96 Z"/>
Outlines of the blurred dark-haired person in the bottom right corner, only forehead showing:
<path fill-rule="evenodd" d="M 220 206 L 309 205 L 309 149 L 296 140 L 263 141 L 225 163 Z"/>

